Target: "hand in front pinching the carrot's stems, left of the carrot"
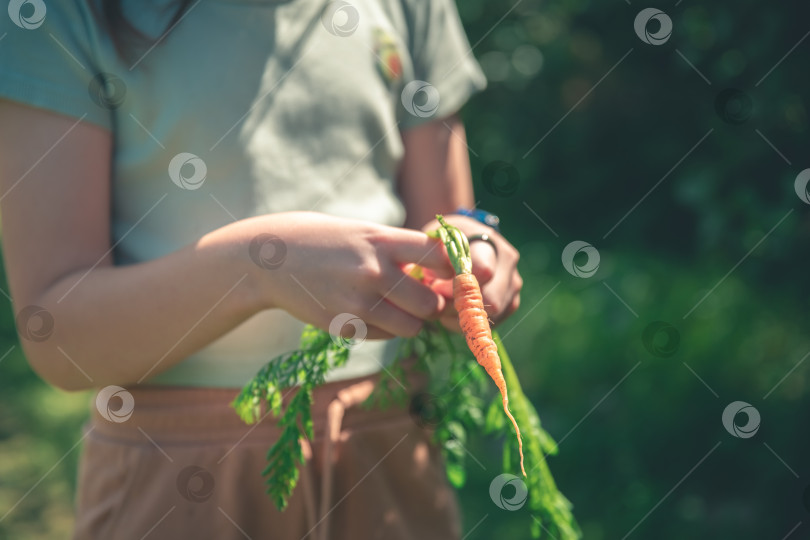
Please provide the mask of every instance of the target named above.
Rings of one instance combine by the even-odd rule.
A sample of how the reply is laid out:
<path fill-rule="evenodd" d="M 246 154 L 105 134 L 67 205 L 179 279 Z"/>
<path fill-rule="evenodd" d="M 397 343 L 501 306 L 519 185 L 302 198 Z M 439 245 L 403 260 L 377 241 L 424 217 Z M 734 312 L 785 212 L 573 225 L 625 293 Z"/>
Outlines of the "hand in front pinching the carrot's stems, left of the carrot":
<path fill-rule="evenodd" d="M 270 214 L 234 225 L 248 243 L 272 234 L 286 247 L 277 267 L 251 263 L 266 308 L 283 309 L 323 330 L 336 315 L 351 313 L 366 324 L 370 339 L 414 336 L 445 308 L 441 294 L 403 271 L 418 263 L 437 277 L 453 277 L 441 243 L 422 232 L 315 212 Z"/>

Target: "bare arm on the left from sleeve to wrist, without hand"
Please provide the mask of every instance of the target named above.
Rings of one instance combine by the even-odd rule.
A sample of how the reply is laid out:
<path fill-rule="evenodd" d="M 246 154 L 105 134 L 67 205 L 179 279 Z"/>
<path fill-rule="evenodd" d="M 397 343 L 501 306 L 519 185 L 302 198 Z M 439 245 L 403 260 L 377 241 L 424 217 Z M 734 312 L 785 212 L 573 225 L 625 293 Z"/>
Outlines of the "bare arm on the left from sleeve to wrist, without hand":
<path fill-rule="evenodd" d="M 110 134 L 8 102 L 0 104 L 0 118 L 3 245 L 14 311 L 38 305 L 53 318 L 47 339 L 21 340 L 43 378 L 66 389 L 135 382 L 158 361 L 160 370 L 171 366 L 259 308 L 246 276 L 252 271 L 228 263 L 227 242 L 203 239 L 160 260 L 113 267 Z M 201 267 L 210 271 L 189 271 Z M 37 321 L 18 317 L 18 325 L 26 323 Z"/>

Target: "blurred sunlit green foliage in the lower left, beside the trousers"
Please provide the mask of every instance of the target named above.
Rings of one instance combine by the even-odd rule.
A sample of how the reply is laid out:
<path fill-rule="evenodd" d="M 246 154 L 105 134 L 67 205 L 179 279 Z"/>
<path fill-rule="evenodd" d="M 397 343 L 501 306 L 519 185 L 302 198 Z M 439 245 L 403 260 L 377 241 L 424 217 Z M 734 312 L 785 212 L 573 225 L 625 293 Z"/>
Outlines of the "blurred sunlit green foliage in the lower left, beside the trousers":
<path fill-rule="evenodd" d="M 8 291 L 4 269 L 0 287 Z M 55 390 L 31 371 L 11 303 L 0 304 L 0 539 L 68 538 L 90 395 Z"/>

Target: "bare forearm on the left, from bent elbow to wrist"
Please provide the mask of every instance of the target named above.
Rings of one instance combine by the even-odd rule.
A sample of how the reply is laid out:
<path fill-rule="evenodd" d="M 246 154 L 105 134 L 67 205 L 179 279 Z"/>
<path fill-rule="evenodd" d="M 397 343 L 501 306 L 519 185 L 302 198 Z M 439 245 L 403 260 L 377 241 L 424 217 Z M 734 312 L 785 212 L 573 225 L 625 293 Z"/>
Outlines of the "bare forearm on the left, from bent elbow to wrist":
<path fill-rule="evenodd" d="M 140 383 L 166 370 L 265 307 L 248 242 L 234 224 L 159 259 L 62 277 L 33 302 L 53 330 L 23 340 L 29 361 L 66 389 Z"/>

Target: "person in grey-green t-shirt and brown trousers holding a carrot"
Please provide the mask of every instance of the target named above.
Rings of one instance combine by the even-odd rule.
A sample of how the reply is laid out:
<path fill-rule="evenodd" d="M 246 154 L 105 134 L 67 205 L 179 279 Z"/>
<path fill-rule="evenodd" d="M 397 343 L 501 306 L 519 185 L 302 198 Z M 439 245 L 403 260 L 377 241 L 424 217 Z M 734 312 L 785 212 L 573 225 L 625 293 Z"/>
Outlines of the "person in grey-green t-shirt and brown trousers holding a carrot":
<path fill-rule="evenodd" d="M 452 2 L 37 0 L 9 15 L 0 196 L 18 329 L 46 381 L 101 389 L 76 537 L 459 537 L 428 434 L 356 406 L 390 338 L 455 325 L 449 282 L 402 270 L 451 277 L 419 230 L 474 204 L 455 113 L 485 81 Z M 502 320 L 517 252 L 449 221 L 487 235 L 474 268 Z M 280 513 L 260 475 L 278 431 L 228 403 L 304 323 L 345 313 L 369 341 L 316 391 Z"/>

